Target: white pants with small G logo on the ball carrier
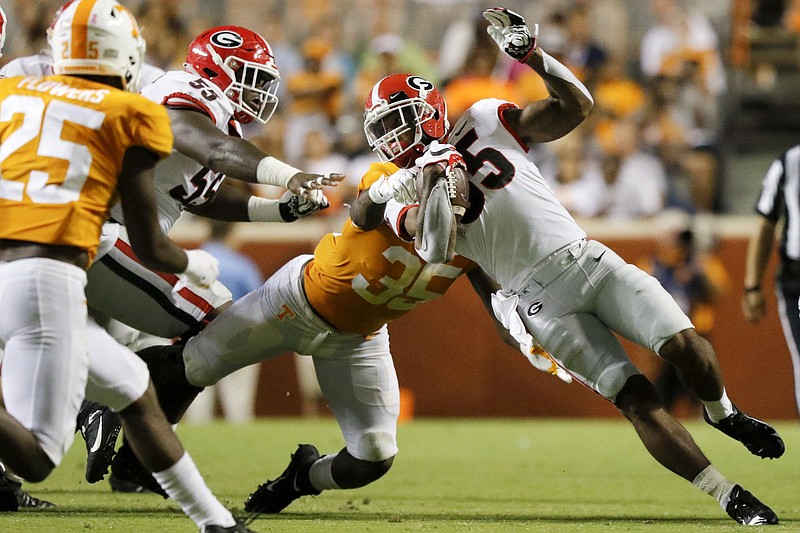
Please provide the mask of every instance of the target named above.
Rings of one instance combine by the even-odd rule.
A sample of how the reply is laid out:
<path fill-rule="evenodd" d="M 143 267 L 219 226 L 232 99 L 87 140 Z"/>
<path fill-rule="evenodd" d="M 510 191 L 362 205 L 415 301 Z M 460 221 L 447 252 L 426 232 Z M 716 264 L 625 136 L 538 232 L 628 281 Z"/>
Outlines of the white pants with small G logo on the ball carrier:
<path fill-rule="evenodd" d="M 658 353 L 692 323 L 657 279 L 596 241 L 542 260 L 519 294 L 528 332 L 574 378 L 612 402 L 641 372 L 614 333 Z"/>

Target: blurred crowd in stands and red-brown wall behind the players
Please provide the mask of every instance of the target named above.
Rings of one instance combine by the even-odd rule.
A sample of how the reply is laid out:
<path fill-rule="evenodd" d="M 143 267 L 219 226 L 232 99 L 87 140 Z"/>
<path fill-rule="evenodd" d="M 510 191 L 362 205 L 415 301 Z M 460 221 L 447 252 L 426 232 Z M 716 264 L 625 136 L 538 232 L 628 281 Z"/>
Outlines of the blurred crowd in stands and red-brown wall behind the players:
<path fill-rule="evenodd" d="M 487 41 L 480 13 L 494 1 L 123 3 L 143 26 L 148 60 L 165 69 L 180 69 L 186 46 L 207 27 L 238 24 L 260 32 L 281 69 L 281 104 L 265 127 L 246 135 L 304 170 L 347 174 L 347 185 L 331 194 L 333 207 L 320 216 L 234 228 L 234 246 L 264 276 L 341 227 L 345 205 L 373 161 L 361 111 L 366 91 L 382 75 L 429 77 L 445 93 L 451 122 L 484 96 L 525 104 L 544 94 L 535 75 Z M 769 316 L 759 326 L 744 321 L 739 298 L 761 178 L 773 158 L 800 140 L 800 2 L 499 3 L 539 23 L 541 46 L 582 77 L 597 100 L 586 124 L 533 155 L 565 205 L 590 237 L 639 264 L 690 229 L 694 252 L 717 288 L 693 318 L 717 347 L 732 397 L 761 417 L 796 418 L 774 297 L 768 294 Z M 0 63 L 45 47 L 45 30 L 60 4 L 3 0 L 10 23 Z M 188 216 L 174 231 L 187 246 L 208 237 L 207 225 Z M 463 281 L 390 331 L 409 416 L 615 416 L 596 395 L 534 371 L 502 345 Z M 657 360 L 629 347 L 655 378 Z M 313 388 L 303 386 L 303 375 L 292 357 L 262 365 L 254 414 L 306 412 L 301 391 Z M 681 416 L 697 413 L 689 398 L 679 398 L 674 409 Z M 324 405 L 318 412 L 324 414 Z"/>

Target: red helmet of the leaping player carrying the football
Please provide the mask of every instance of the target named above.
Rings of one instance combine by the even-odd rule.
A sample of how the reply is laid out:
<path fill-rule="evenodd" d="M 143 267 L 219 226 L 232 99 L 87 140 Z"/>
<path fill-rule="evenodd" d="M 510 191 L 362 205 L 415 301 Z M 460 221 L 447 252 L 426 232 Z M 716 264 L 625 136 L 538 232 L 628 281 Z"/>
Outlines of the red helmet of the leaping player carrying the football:
<path fill-rule="evenodd" d="M 425 146 L 450 129 L 447 104 L 425 78 L 411 74 L 386 76 L 367 96 L 364 133 L 381 161 L 409 166 Z"/>

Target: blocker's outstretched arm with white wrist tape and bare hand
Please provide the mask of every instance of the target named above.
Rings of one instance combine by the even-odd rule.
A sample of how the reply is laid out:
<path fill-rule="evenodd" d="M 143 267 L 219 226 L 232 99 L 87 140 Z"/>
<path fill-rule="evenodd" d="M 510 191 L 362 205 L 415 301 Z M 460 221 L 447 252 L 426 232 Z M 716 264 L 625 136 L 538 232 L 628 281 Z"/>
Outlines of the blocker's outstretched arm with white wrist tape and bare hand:
<path fill-rule="evenodd" d="M 175 149 L 216 172 L 248 183 L 289 189 L 294 194 L 335 187 L 342 174 L 308 174 L 268 156 L 250 141 L 227 135 L 208 116 L 191 109 L 168 109 Z"/>

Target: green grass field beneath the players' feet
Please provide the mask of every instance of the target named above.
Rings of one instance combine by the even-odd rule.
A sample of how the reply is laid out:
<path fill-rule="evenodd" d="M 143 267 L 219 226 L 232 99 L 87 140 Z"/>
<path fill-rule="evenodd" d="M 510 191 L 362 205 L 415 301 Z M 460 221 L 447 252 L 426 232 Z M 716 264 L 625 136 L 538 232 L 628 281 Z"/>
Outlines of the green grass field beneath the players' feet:
<path fill-rule="evenodd" d="M 750 455 L 702 422 L 687 423 L 709 458 L 781 519 L 770 531 L 800 531 L 800 424 L 777 424 L 779 460 Z M 235 512 L 255 487 L 283 471 L 301 442 L 323 453 L 342 446 L 332 419 L 264 419 L 234 427 L 185 426 L 184 444 L 217 496 Z M 737 531 L 719 505 L 661 468 L 619 420 L 415 420 L 399 428 L 400 454 L 383 479 L 303 498 L 262 516 L 255 531 L 506 532 Z M 114 494 L 83 479 L 78 436 L 64 463 L 34 495 L 48 511 L 0 516 L 3 532 L 190 532 L 170 501 Z"/>

